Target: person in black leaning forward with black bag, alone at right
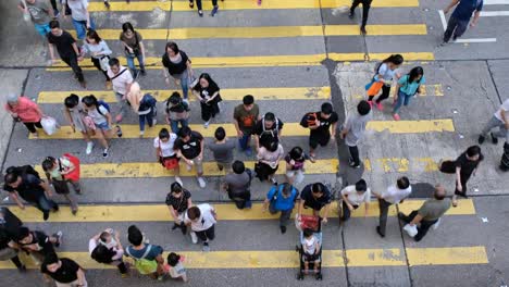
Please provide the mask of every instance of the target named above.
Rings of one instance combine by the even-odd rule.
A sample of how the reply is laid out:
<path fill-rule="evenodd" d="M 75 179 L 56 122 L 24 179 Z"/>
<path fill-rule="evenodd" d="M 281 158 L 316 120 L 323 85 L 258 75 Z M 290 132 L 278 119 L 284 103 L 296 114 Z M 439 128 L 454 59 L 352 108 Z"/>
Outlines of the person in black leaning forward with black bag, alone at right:
<path fill-rule="evenodd" d="M 444 161 L 439 163 L 443 173 L 456 174 L 456 189 L 452 196 L 452 207 L 458 205 L 457 197 L 467 197 L 467 183 L 472 175 L 475 176 L 479 164 L 484 160 L 479 146 L 471 146 L 462 152 L 456 161 Z"/>

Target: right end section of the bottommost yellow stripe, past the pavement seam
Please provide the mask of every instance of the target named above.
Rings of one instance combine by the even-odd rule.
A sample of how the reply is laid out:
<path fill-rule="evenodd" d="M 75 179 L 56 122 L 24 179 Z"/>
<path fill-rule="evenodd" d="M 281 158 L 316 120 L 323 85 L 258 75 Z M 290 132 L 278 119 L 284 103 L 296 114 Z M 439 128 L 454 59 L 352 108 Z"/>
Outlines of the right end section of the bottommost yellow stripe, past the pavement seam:
<path fill-rule="evenodd" d="M 407 248 L 410 266 L 487 264 L 484 246 L 449 248 Z"/>

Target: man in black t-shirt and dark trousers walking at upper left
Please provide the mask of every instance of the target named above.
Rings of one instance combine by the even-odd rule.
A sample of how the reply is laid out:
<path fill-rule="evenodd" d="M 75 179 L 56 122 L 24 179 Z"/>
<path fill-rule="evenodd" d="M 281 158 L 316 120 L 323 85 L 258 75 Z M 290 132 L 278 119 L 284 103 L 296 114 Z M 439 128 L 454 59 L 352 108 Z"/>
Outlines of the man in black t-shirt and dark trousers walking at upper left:
<path fill-rule="evenodd" d="M 79 85 L 86 88 L 87 84 L 85 83 L 83 71 L 77 63 L 80 53 L 76 40 L 69 32 L 60 28 L 60 23 L 57 20 L 50 22 L 50 29 L 51 32 L 48 33 L 47 38 L 52 63 L 58 63 L 53 51 L 53 47 L 57 47 L 60 59 L 73 70 L 74 76 L 79 82 Z"/>

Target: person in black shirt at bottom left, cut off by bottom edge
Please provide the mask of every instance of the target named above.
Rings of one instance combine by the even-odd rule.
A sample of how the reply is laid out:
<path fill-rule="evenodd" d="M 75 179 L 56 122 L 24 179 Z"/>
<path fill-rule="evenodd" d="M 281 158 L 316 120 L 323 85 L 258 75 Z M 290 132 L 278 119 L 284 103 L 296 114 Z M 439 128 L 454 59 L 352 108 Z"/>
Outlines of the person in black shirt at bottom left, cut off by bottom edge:
<path fill-rule="evenodd" d="M 59 259 L 55 253 L 46 257 L 40 266 L 40 272 L 47 282 L 52 278 L 57 286 L 87 287 L 87 280 L 83 269 L 73 260 Z"/>

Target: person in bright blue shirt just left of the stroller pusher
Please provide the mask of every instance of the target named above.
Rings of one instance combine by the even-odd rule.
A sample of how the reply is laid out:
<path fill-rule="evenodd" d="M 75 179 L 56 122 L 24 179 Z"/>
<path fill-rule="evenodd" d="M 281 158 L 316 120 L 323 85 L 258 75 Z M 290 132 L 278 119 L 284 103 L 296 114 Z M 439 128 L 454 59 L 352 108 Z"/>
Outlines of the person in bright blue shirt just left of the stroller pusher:
<path fill-rule="evenodd" d="M 281 211 L 280 229 L 282 234 L 286 233 L 286 225 L 288 225 L 298 197 L 299 191 L 288 183 L 278 186 L 274 185 L 266 194 L 265 201 L 263 202 L 263 212 L 266 212 L 268 208 L 271 214 Z"/>

